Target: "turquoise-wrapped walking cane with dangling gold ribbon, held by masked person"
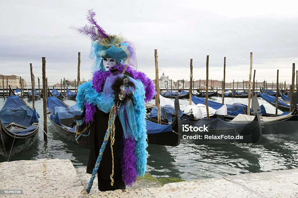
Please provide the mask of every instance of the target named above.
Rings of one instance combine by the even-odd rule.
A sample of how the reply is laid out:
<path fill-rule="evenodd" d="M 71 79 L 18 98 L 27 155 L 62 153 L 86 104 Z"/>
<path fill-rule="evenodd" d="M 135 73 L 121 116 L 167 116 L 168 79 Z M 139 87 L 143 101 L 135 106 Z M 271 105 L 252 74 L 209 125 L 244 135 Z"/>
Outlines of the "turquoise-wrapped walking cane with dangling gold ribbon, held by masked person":
<path fill-rule="evenodd" d="M 103 156 L 103 152 L 105 150 L 105 146 L 106 144 L 108 143 L 108 139 L 109 139 L 109 136 L 112 134 L 112 139 L 111 139 L 111 149 L 112 149 L 112 146 L 113 146 L 113 138 L 114 138 L 114 131 L 115 131 L 115 125 L 114 125 L 114 122 L 115 122 L 115 118 L 116 118 L 117 114 L 116 114 L 116 105 L 114 104 L 111 108 L 111 111 L 110 111 L 110 116 L 109 116 L 109 125 L 108 125 L 108 129 L 105 133 L 105 137 L 103 139 L 103 144 L 101 145 L 101 148 L 100 148 L 100 151 L 99 151 L 99 155 L 97 157 L 97 160 L 96 160 L 96 163 L 95 163 L 95 167 L 92 171 L 92 174 L 91 174 L 91 178 L 90 178 L 90 181 L 88 183 L 88 187 L 86 188 L 86 191 L 87 193 L 89 194 L 90 193 L 90 190 L 92 188 L 92 185 L 93 185 L 93 181 L 95 179 L 95 174 L 97 173 L 97 170 L 99 168 L 99 165 L 100 165 L 100 161 L 102 159 L 102 156 Z M 115 139 L 114 139 L 115 141 Z M 112 158 L 114 159 L 114 155 L 113 155 L 113 150 L 112 150 Z M 113 160 L 114 161 L 114 160 Z M 111 185 L 113 186 L 113 183 L 114 183 L 114 180 L 113 180 L 113 173 L 114 173 L 114 166 L 112 166 L 112 174 L 111 174 Z"/>

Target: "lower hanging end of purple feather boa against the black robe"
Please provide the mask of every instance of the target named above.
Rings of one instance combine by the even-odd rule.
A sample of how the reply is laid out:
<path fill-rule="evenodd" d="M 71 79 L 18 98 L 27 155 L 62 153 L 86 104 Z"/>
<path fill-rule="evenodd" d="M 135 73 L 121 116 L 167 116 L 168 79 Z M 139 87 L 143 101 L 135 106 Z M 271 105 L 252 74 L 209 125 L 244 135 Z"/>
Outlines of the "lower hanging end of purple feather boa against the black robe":
<path fill-rule="evenodd" d="M 136 181 L 136 156 L 134 155 L 135 140 L 125 139 L 123 135 L 123 155 L 121 159 L 122 181 L 131 186 Z"/>

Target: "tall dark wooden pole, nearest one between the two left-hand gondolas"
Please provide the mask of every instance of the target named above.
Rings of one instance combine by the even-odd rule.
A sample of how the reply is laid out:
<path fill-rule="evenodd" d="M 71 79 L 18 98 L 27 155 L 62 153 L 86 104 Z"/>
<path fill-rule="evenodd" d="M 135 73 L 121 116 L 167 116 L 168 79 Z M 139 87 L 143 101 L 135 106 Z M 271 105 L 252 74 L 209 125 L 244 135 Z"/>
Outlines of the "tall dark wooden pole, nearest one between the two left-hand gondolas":
<path fill-rule="evenodd" d="M 43 89 L 43 97 L 42 97 L 42 101 L 43 101 L 43 107 L 44 107 L 44 141 L 47 140 L 47 116 L 46 116 L 46 100 L 47 100 L 47 95 L 46 95 L 46 57 L 42 57 L 42 89 Z"/>

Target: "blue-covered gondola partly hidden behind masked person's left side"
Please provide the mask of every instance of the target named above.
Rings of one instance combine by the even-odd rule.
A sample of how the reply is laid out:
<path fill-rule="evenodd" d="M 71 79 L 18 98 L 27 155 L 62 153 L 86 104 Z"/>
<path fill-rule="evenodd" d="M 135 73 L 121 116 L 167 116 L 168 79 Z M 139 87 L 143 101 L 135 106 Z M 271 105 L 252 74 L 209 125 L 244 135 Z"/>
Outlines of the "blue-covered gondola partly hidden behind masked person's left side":
<path fill-rule="evenodd" d="M 47 116 L 55 129 L 55 132 L 58 133 L 60 136 L 65 138 L 66 140 L 77 144 L 75 140 L 75 126 L 76 126 L 76 115 L 81 115 L 81 112 L 75 107 L 72 106 L 70 108 L 69 105 L 65 104 L 63 101 L 59 100 L 58 98 L 54 97 L 52 93 L 48 89 L 48 98 L 47 98 Z M 66 112 L 67 115 L 58 117 L 57 110 L 61 110 Z M 69 113 L 68 113 L 69 112 Z M 70 116 L 71 115 L 71 116 Z"/>

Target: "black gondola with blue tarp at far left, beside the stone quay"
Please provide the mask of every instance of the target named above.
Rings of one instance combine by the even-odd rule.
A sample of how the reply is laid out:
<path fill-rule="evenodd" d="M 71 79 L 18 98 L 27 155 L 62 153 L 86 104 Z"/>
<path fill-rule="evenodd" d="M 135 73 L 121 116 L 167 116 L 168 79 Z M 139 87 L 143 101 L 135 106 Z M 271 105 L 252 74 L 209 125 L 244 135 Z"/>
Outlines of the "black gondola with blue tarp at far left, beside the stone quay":
<path fill-rule="evenodd" d="M 9 161 L 29 148 L 38 137 L 38 118 L 36 110 L 9 87 L 9 96 L 0 111 L 0 155 Z"/>

